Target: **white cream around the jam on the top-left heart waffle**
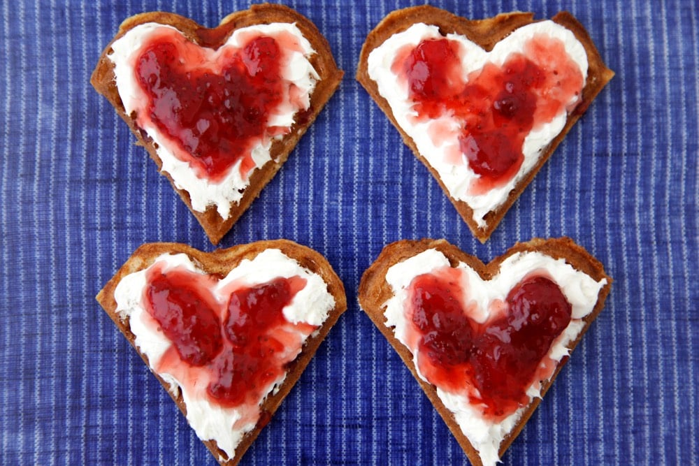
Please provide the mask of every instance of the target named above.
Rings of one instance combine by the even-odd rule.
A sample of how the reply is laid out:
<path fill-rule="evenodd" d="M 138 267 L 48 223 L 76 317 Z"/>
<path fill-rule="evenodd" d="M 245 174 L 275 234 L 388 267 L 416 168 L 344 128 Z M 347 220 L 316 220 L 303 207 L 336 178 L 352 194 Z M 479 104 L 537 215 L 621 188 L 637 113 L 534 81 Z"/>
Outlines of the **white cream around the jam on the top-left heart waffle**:
<path fill-rule="evenodd" d="M 273 140 L 282 136 L 266 138 L 252 148 L 251 155 L 254 166 L 247 173 L 240 173 L 241 161 L 239 160 L 229 168 L 227 174 L 218 182 L 212 182 L 197 176 L 187 161 L 183 161 L 175 156 L 176 153 L 181 152 L 177 143 L 166 138 L 150 122 L 150 119 L 138 118 L 138 115 L 144 112 L 148 99 L 143 89 L 136 82 L 134 61 L 139 56 L 143 45 L 148 43 L 150 38 L 161 34 L 164 30 L 177 31 L 178 34 L 181 34 L 171 26 L 145 23 L 130 29 L 127 34 L 124 34 L 124 36 L 112 44 L 112 52 L 107 57 L 114 64 L 117 91 L 122 99 L 122 103 L 124 103 L 127 115 L 136 112 L 136 120 L 139 126 L 157 144 L 157 154 L 163 162 L 162 170 L 172 177 L 178 189 L 184 189 L 189 193 L 192 208 L 198 212 L 204 212 L 208 206 L 215 206 L 219 215 L 225 220 L 229 217 L 231 203 L 238 203 L 243 198 L 243 192 L 250 184 L 252 172 L 271 161 L 270 148 Z M 310 94 L 312 94 L 319 80 L 317 71 L 315 71 L 315 68 L 308 60 L 312 54 L 315 54 L 315 50 L 312 49 L 310 42 L 298 30 L 296 24 L 259 24 L 236 29 L 226 43 L 217 50 L 206 48 L 203 50 L 206 53 L 206 57 L 208 57 L 208 64 L 212 64 L 220 56 L 229 52 L 229 50 L 243 47 L 247 39 L 255 34 L 272 38 L 281 34 L 291 34 L 296 39 L 298 50 L 287 50 L 285 52 L 288 61 L 281 69 L 282 79 L 289 82 L 290 87 L 296 88 L 294 99 L 291 99 L 294 103 L 289 101 L 289 96 L 287 95 L 287 99 L 283 99 L 280 106 L 273 111 L 273 115 L 271 115 L 268 122 L 268 126 L 289 128 L 294 124 L 296 112 L 307 110 L 310 106 Z M 283 41 L 279 43 L 283 45 Z"/>

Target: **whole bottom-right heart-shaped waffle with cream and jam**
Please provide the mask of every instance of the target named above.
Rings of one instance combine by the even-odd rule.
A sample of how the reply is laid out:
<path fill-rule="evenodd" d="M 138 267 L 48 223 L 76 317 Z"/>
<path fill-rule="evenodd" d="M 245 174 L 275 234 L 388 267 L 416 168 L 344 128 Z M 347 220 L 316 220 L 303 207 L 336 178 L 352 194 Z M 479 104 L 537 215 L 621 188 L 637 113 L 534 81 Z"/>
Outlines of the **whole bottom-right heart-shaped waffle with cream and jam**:
<path fill-rule="evenodd" d="M 403 240 L 364 272 L 359 304 L 471 463 L 494 465 L 602 310 L 611 282 L 568 238 L 518 243 L 487 265 L 445 240 Z"/>

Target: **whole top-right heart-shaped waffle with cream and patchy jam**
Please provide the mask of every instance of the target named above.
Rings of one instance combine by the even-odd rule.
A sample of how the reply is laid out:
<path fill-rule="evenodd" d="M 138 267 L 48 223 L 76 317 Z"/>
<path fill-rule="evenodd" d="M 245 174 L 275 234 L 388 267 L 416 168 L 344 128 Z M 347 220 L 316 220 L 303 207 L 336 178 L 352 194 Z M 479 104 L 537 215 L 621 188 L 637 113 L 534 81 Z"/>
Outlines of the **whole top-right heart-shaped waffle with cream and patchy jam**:
<path fill-rule="evenodd" d="M 614 73 L 570 13 L 397 10 L 356 79 L 485 242 Z"/>

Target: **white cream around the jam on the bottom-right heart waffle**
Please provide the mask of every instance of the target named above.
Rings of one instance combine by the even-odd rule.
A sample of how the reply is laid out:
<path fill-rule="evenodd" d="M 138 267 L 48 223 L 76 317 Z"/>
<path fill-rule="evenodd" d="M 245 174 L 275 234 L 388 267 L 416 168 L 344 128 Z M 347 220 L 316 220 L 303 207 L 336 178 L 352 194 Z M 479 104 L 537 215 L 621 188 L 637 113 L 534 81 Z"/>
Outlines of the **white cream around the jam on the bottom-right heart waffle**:
<path fill-rule="evenodd" d="M 413 354 L 413 364 L 419 376 L 427 381 L 420 373 L 417 365 L 417 347 L 410 347 L 408 342 L 408 321 L 405 311 L 408 302 L 408 288 L 415 277 L 435 272 L 449 267 L 448 259 L 436 249 L 428 249 L 417 256 L 413 256 L 401 263 L 389 268 L 386 281 L 394 291 L 384 311 L 386 326 L 394 328 L 398 341 L 407 347 Z M 552 279 L 563 292 L 563 295 L 572 306 L 572 319 L 563 333 L 554 340 L 548 358 L 561 361 L 567 356 L 568 344 L 575 341 L 584 327 L 585 316 L 590 314 L 597 303 L 600 289 L 605 286 L 607 279 L 596 282 L 589 275 L 565 262 L 564 259 L 553 259 L 540 252 L 519 252 L 513 254 L 500 265 L 498 275 L 488 281 L 481 279 L 480 275 L 465 263 L 459 263 L 458 267 L 463 274 L 461 279 L 464 290 L 468 290 L 463 296 L 463 303 L 471 307 L 475 305 L 477 314 L 469 314 L 471 318 L 484 322 L 489 318 L 491 303 L 496 300 L 504 302 L 510 290 L 516 286 L 531 272 L 544 272 Z M 468 286 L 466 286 L 468 285 Z M 448 393 L 437 388 L 437 395 L 442 403 L 454 414 L 456 423 L 461 428 L 463 435 L 480 454 L 485 466 L 495 465 L 500 461 L 498 449 L 505 436 L 512 431 L 517 424 L 524 407 L 517 409 L 499 423 L 493 422 L 482 416 L 482 412 L 469 403 L 468 397 L 456 393 Z M 540 396 L 538 382 L 532 384 L 527 391 L 529 399 Z"/>

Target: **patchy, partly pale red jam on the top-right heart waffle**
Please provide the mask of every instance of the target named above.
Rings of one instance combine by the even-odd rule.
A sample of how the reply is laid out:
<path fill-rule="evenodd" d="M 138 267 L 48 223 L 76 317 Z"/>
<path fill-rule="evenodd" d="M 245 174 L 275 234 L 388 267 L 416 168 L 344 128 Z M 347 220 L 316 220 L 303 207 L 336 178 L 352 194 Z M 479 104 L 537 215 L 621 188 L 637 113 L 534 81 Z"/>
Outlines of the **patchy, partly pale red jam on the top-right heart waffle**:
<path fill-rule="evenodd" d="M 509 181 L 524 161 L 528 133 L 582 92 L 582 73 L 563 42 L 545 35 L 528 40 L 524 53 L 513 52 L 502 66 L 489 63 L 468 75 L 459 43 L 446 38 L 422 41 L 397 60 L 419 121 L 452 115 L 461 122 L 461 159 L 480 175 L 477 193 Z"/>

